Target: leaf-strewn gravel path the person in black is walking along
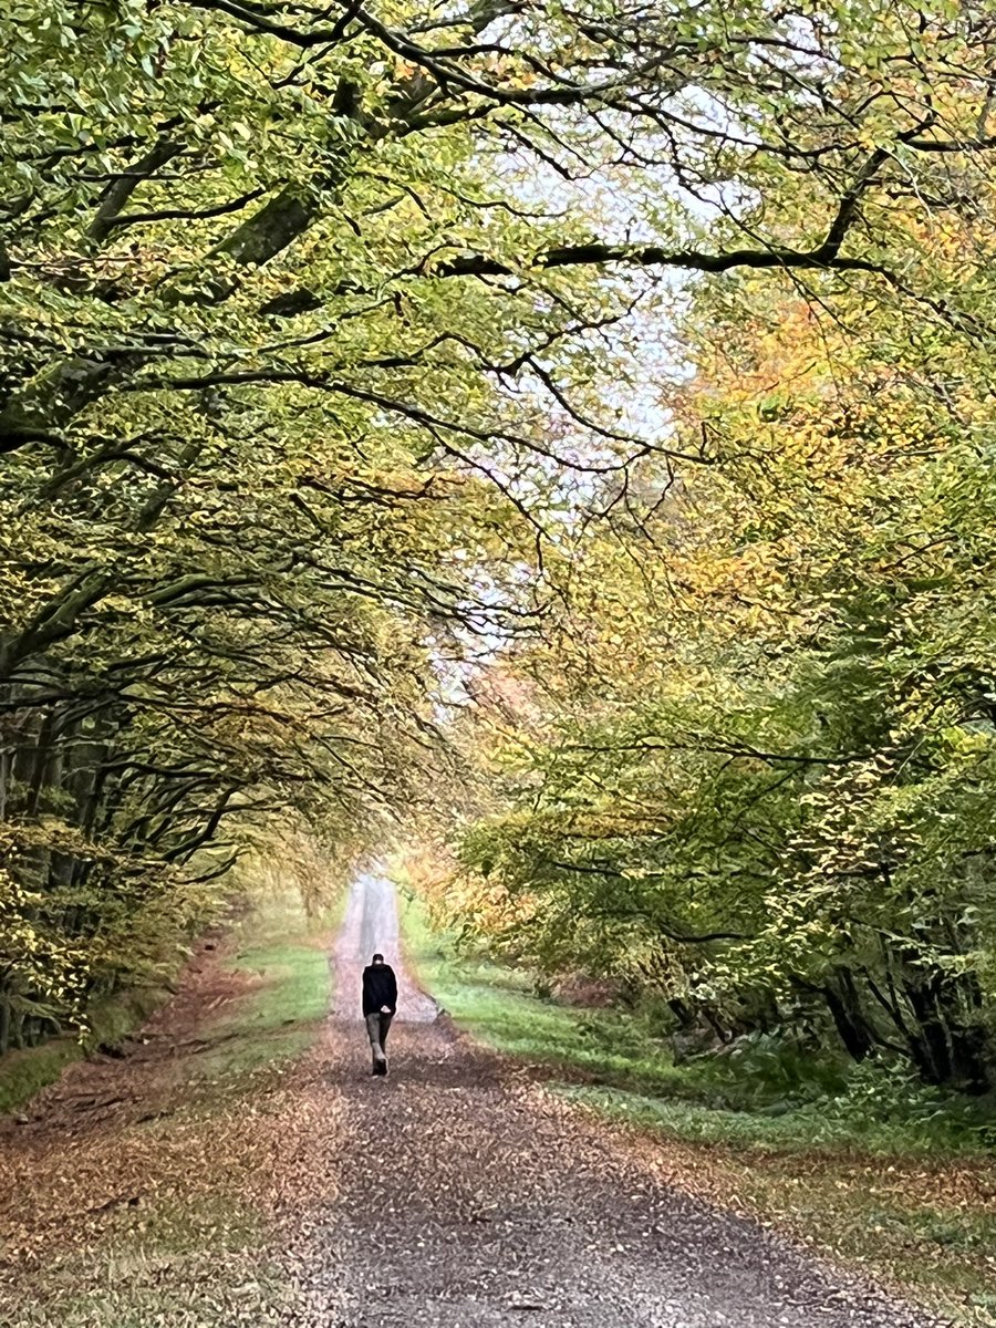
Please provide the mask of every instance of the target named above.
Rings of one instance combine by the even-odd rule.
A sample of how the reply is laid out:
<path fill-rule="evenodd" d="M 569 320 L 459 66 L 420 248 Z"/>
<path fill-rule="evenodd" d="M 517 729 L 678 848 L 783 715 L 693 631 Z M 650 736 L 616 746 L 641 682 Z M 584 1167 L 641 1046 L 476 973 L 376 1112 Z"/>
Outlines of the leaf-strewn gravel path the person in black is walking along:
<path fill-rule="evenodd" d="M 392 1076 L 368 1077 L 359 971 L 398 972 Z M 457 1037 L 404 972 L 386 882 L 357 882 L 316 1053 L 328 1198 L 280 1219 L 295 1328 L 924 1328 L 667 1181 L 635 1147 Z"/>

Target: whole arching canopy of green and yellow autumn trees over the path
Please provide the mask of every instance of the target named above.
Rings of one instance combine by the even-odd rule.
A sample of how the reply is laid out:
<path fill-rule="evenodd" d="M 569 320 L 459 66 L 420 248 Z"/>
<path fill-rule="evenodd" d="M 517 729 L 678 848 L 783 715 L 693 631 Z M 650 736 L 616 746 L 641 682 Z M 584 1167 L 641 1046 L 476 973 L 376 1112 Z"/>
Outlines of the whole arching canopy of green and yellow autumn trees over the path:
<path fill-rule="evenodd" d="M 401 834 L 543 971 L 991 1086 L 991 7 L 0 52 L 0 1054 Z"/>

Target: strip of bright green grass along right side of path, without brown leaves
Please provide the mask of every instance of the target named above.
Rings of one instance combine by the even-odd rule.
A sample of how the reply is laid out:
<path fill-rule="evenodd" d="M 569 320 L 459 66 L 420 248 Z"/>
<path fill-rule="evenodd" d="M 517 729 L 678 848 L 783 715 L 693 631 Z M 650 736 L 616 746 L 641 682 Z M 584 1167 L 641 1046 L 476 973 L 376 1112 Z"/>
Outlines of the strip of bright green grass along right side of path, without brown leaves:
<path fill-rule="evenodd" d="M 560 1072 L 562 1092 L 693 1143 L 758 1151 L 979 1154 L 983 1106 L 911 1085 L 903 1072 L 803 1060 L 774 1040 L 676 1065 L 653 1012 L 586 1009 L 534 995 L 529 973 L 462 955 L 418 899 L 401 926 L 422 984 L 483 1044 Z"/>

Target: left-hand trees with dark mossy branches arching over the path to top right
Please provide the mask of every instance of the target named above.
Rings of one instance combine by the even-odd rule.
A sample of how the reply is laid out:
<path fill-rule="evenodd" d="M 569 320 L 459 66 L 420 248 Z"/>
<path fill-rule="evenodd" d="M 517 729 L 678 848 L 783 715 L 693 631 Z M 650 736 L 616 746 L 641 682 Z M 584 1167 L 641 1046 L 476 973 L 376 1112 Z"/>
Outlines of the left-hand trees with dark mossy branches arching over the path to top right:
<path fill-rule="evenodd" d="M 985 240 L 971 290 L 931 240 L 988 197 L 984 15 L 8 8 L 8 971 L 182 930 L 247 819 L 382 833 L 592 495 L 708 461 L 627 409 L 675 274 L 977 336 Z"/>

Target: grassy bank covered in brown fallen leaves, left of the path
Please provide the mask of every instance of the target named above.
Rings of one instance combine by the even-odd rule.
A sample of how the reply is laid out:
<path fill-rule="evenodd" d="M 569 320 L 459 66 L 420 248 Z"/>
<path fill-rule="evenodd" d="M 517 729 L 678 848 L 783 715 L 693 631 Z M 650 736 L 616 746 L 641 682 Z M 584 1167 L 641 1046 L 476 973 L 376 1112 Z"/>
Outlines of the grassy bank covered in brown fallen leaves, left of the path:
<path fill-rule="evenodd" d="M 4 1223 L 0 1321 L 280 1321 L 288 1291 L 266 1248 L 274 1186 L 316 1129 L 284 1085 L 329 1008 L 335 918 L 305 918 L 290 894 L 260 895 L 201 955 L 134 1061 L 73 1068 L 44 1130 L 0 1153 L 0 1187 L 15 1193 L 24 1167 L 33 1193 L 31 1214 L 15 1207 Z M 81 1100 L 108 1104 L 84 1134 Z"/>

